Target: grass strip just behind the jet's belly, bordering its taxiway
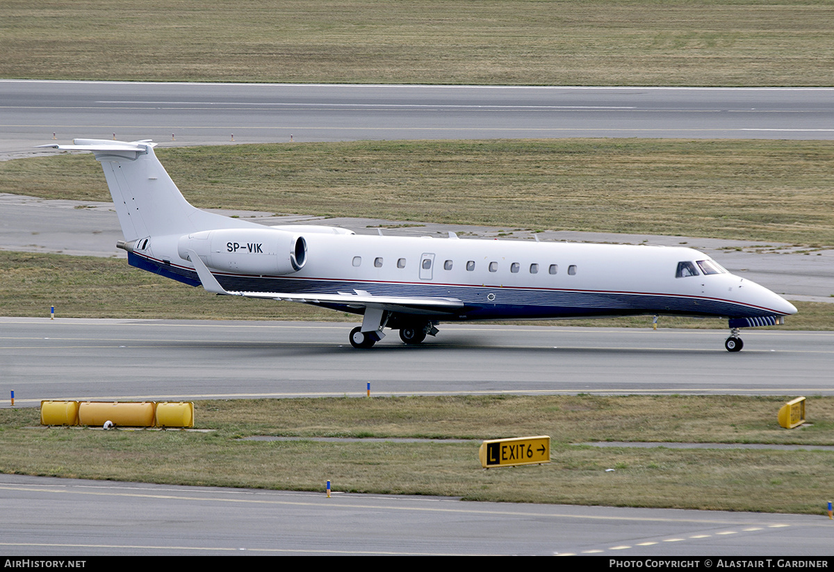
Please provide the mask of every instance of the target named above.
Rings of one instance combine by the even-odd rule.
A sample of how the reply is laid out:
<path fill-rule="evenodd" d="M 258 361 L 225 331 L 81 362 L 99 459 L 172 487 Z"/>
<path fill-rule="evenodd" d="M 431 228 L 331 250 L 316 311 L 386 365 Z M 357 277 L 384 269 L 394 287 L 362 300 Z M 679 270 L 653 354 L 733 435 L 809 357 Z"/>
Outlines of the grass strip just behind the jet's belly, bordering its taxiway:
<path fill-rule="evenodd" d="M 54 306 L 58 318 L 361 321 L 354 314 L 307 304 L 214 296 L 202 288 L 130 267 L 125 259 L 0 250 L 0 274 L 3 316 L 46 318 Z M 834 330 L 834 304 L 794 305 L 799 314 L 774 328 Z M 651 328 L 651 316 L 530 324 Z M 726 320 L 662 317 L 658 327 L 726 329 Z"/>

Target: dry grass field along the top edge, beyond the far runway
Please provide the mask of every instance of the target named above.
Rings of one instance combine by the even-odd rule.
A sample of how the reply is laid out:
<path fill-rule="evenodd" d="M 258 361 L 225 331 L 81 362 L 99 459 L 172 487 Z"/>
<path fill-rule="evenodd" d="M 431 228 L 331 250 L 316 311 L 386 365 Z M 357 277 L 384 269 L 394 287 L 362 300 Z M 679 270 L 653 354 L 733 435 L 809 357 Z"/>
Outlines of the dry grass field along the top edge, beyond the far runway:
<path fill-rule="evenodd" d="M 823 0 L 5 0 L 0 77 L 831 85 Z"/>

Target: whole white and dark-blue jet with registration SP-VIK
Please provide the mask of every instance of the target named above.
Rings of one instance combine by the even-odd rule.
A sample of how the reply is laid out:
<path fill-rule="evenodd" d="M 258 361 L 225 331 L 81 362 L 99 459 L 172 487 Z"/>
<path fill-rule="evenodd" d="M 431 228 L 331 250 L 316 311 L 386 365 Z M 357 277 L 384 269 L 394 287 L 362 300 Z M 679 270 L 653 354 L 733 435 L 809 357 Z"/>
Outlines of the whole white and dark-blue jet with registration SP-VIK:
<path fill-rule="evenodd" d="M 149 140 L 75 139 L 102 163 L 131 266 L 208 292 L 314 304 L 363 316 L 349 335 L 370 348 L 398 329 L 405 344 L 440 322 L 675 315 L 739 329 L 783 324 L 796 308 L 692 248 L 361 236 L 274 226 L 189 204 Z"/>

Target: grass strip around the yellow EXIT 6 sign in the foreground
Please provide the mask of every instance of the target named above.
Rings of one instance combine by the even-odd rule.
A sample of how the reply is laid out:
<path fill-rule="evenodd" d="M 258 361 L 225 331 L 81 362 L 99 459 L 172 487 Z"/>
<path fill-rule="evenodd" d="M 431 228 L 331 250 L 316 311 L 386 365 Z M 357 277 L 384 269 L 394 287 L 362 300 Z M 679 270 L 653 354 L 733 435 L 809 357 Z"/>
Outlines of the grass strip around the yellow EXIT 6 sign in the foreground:
<path fill-rule="evenodd" d="M 195 404 L 209 433 L 38 429 L 38 409 L 0 409 L 0 470 L 265 489 L 438 494 L 465 499 L 824 514 L 834 479 L 834 398 L 441 396 L 256 399 Z M 480 468 L 481 439 L 550 434 L 551 463 Z M 358 441 L 250 441 L 250 435 Z M 440 442 L 363 441 L 434 438 Z M 470 439 L 469 443 L 446 439 Z M 596 440 L 801 444 L 801 450 L 595 448 Z M 606 472 L 606 469 L 614 469 Z"/>

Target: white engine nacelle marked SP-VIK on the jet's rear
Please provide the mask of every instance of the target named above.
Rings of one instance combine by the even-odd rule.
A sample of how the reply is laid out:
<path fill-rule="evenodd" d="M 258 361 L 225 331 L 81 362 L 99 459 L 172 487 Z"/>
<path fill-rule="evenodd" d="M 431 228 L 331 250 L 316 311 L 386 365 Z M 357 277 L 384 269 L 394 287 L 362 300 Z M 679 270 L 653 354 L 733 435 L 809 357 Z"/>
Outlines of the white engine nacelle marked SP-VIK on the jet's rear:
<path fill-rule="evenodd" d="M 274 228 L 220 228 L 179 237 L 179 258 L 188 250 L 208 268 L 223 272 L 279 275 L 298 272 L 307 262 L 307 241 Z"/>

